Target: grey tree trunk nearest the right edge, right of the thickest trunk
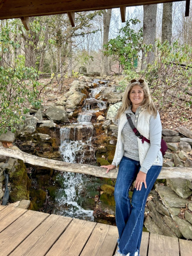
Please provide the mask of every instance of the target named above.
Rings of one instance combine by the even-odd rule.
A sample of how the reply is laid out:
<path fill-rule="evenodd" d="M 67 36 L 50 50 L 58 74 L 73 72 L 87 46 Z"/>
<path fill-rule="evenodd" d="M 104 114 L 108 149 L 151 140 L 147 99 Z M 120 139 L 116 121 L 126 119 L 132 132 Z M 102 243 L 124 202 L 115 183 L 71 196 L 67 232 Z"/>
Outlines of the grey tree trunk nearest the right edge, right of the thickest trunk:
<path fill-rule="evenodd" d="M 162 43 L 164 43 L 167 40 L 171 44 L 172 8 L 173 8 L 173 3 L 164 3 L 163 4 Z"/>

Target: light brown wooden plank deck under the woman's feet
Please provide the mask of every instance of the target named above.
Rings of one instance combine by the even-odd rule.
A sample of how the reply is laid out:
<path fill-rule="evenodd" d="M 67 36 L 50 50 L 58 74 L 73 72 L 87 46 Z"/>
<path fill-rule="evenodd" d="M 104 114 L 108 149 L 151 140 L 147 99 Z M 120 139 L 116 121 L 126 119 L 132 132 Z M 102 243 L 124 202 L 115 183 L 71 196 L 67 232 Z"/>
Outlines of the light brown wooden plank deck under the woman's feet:
<path fill-rule="evenodd" d="M 117 228 L 0 205 L 0 256 L 113 256 Z M 141 256 L 190 256 L 192 242 L 143 233 Z"/>

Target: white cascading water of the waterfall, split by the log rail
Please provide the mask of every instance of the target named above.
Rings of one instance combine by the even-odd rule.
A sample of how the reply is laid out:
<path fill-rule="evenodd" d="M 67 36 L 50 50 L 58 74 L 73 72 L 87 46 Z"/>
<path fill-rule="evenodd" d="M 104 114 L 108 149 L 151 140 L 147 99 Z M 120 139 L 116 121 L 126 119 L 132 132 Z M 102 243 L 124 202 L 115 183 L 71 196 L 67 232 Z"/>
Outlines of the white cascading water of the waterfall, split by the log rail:
<path fill-rule="evenodd" d="M 104 101 L 94 99 L 95 95 L 102 89 L 103 85 L 91 90 L 90 98 L 84 102 L 83 112 L 78 115 L 78 123 L 60 129 L 60 151 L 64 162 L 95 162 L 94 150 L 91 144 L 93 134 L 91 118 L 95 112 L 106 108 Z M 90 177 L 79 173 L 64 172 L 59 174 L 57 179 L 61 188 L 55 198 L 57 203 L 55 213 L 93 221 L 93 211 L 84 210 L 79 199 L 86 182 L 90 182 Z"/>

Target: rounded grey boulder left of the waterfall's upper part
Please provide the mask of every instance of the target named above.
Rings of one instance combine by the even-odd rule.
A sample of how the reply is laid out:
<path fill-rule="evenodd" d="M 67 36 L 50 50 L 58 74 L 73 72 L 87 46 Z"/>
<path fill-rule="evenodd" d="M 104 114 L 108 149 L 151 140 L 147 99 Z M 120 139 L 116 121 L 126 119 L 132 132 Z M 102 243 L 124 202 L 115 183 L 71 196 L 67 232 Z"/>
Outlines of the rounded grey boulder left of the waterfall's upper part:
<path fill-rule="evenodd" d="M 50 106 L 46 110 L 46 116 L 53 121 L 63 121 L 68 120 L 67 111 L 61 106 Z"/>

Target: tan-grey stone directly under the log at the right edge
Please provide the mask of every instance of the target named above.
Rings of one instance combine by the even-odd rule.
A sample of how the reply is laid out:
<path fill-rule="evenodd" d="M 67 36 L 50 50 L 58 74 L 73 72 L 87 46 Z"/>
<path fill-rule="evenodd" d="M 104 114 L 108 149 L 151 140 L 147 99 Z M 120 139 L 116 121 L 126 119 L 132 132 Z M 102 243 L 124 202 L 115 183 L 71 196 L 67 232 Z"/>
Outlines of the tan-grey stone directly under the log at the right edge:
<path fill-rule="evenodd" d="M 184 179 L 167 179 L 167 185 L 181 198 L 188 198 L 192 195 L 192 190 L 187 186 L 187 180 Z"/>

